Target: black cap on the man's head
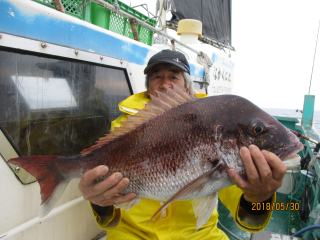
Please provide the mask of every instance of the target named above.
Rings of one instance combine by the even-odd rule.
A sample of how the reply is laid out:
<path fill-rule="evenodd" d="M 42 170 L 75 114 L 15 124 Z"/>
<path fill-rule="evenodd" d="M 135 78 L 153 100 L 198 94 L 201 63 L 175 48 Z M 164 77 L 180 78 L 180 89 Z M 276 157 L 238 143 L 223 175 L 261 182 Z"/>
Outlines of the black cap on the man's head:
<path fill-rule="evenodd" d="M 144 69 L 144 74 L 147 74 L 149 70 L 158 63 L 171 63 L 190 75 L 189 63 L 184 54 L 180 52 L 162 50 L 161 52 L 156 53 L 149 59 L 148 65 Z"/>

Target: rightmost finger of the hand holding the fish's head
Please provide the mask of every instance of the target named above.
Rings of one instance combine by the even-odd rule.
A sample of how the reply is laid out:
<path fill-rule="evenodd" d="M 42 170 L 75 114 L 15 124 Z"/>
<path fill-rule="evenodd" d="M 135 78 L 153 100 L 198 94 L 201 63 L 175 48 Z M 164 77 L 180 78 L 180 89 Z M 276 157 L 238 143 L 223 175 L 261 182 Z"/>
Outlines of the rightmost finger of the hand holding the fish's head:
<path fill-rule="evenodd" d="M 287 171 L 286 165 L 272 152 L 262 151 L 262 154 L 272 168 L 273 179 L 276 181 L 282 180 Z"/>

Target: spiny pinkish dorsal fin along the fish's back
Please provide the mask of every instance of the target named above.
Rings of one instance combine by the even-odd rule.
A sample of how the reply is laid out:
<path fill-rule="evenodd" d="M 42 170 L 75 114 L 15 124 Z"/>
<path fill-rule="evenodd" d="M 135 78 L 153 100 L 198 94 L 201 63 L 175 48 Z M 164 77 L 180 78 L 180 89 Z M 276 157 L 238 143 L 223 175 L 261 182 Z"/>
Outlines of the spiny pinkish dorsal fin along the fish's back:
<path fill-rule="evenodd" d="M 162 89 L 166 90 L 166 92 L 156 91 L 158 94 L 157 97 L 150 94 L 150 103 L 145 103 L 143 109 L 136 109 L 138 112 L 134 116 L 128 115 L 128 120 L 126 122 L 121 122 L 121 127 L 117 127 L 114 131 L 110 131 L 110 134 L 106 134 L 105 137 L 99 138 L 99 141 L 97 141 L 95 145 L 84 149 L 81 154 L 87 155 L 93 150 L 101 148 L 173 106 L 198 98 L 192 93 L 188 94 L 185 90 L 179 88 L 175 84 L 173 84 L 173 89 L 167 86 L 162 86 Z"/>

